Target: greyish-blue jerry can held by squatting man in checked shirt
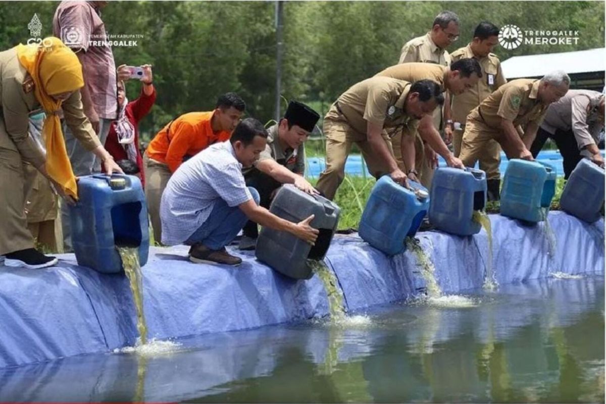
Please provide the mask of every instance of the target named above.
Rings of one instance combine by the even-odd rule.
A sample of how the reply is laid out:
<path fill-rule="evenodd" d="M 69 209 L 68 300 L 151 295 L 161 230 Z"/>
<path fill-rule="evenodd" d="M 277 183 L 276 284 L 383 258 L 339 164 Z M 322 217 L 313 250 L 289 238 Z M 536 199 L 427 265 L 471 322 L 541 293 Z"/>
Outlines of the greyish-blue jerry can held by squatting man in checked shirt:
<path fill-rule="evenodd" d="M 286 231 L 264 227 L 255 249 L 257 259 L 273 270 L 294 279 L 310 279 L 313 270 L 307 259 L 324 259 L 337 230 L 341 209 L 324 197 L 310 195 L 287 184 L 282 185 L 271 202 L 270 212 L 295 223 L 315 215 L 310 225 L 320 233 L 313 247 Z"/>

